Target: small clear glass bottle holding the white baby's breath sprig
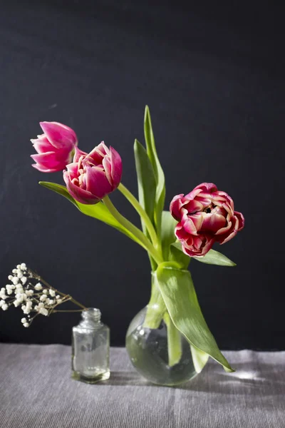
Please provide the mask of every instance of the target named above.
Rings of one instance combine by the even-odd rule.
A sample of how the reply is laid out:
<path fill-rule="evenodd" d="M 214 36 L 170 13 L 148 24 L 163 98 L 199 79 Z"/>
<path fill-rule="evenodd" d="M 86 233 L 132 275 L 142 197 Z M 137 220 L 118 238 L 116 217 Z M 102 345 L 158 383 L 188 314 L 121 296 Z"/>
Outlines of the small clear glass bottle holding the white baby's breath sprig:
<path fill-rule="evenodd" d="M 95 307 L 83 310 L 81 322 L 72 329 L 72 377 L 95 383 L 110 377 L 110 330 L 100 322 Z"/>

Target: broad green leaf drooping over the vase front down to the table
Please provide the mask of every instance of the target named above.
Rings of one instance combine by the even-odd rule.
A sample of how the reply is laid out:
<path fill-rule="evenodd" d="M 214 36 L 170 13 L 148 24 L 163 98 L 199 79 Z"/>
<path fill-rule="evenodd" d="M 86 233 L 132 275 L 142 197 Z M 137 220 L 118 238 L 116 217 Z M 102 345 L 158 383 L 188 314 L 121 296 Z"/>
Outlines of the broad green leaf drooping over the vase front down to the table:
<path fill-rule="evenodd" d="M 172 263 L 161 263 L 157 267 L 156 277 L 175 327 L 191 345 L 219 362 L 225 370 L 233 372 L 204 320 L 190 272 L 177 269 Z"/>

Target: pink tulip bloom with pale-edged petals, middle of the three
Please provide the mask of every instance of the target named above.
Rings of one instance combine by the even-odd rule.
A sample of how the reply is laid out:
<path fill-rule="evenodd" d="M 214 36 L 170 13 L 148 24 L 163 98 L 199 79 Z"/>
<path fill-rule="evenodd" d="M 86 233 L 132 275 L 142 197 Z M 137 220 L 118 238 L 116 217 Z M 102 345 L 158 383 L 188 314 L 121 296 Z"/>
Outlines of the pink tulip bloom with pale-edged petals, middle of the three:
<path fill-rule="evenodd" d="M 89 154 L 76 147 L 73 163 L 63 173 L 68 192 L 78 202 L 98 203 L 120 184 L 122 160 L 113 147 L 102 142 Z"/>

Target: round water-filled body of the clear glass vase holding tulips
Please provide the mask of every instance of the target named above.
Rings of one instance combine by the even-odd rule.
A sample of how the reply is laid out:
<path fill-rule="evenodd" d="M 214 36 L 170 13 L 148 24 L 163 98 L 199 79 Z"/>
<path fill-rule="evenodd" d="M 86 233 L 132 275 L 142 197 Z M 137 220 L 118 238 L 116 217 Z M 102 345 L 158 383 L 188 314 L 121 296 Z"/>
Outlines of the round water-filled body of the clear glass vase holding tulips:
<path fill-rule="evenodd" d="M 145 327 L 147 307 L 130 322 L 126 348 L 138 372 L 154 384 L 173 386 L 197 375 L 190 343 L 173 325 L 168 313 L 157 328 Z"/>

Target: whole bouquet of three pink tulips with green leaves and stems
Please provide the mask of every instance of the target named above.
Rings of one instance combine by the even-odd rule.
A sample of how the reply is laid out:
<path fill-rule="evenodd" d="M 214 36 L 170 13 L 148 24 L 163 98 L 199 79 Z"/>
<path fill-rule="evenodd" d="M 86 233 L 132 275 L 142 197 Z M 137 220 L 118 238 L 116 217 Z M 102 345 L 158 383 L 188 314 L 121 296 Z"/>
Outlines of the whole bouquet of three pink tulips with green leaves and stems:
<path fill-rule="evenodd" d="M 213 183 L 197 185 L 187 195 L 172 198 L 165 207 L 165 176 L 155 148 L 150 111 L 145 108 L 145 146 L 135 140 L 138 199 L 121 182 L 122 160 L 113 147 L 100 143 L 90 153 L 78 148 L 76 133 L 56 122 L 40 123 L 43 134 L 31 140 L 38 154 L 33 167 L 43 173 L 63 170 L 66 185 L 40 182 L 67 198 L 85 215 L 120 230 L 147 251 L 152 269 L 152 290 L 145 327 L 157 328 L 165 320 L 169 365 L 179 362 L 177 329 L 190 342 L 197 372 L 208 357 L 233 371 L 219 351 L 199 307 L 188 265 L 193 258 L 202 263 L 234 266 L 226 256 L 212 250 L 244 227 L 243 215 L 234 202 Z M 140 215 L 139 229 L 115 208 L 110 193 L 118 189 Z"/>

